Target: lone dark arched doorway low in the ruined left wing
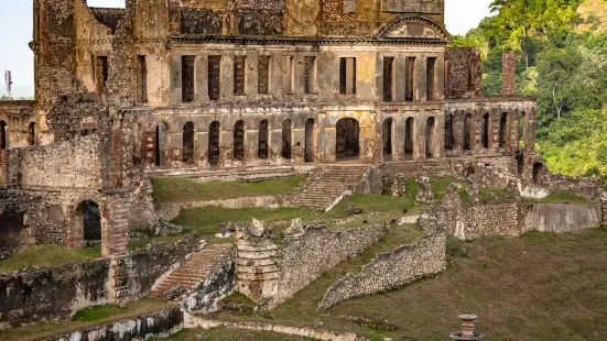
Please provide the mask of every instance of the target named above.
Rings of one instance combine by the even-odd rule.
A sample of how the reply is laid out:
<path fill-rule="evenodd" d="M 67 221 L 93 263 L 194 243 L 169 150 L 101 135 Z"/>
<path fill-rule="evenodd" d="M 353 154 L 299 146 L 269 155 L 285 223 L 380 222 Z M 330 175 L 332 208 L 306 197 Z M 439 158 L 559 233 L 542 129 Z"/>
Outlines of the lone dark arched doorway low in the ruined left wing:
<path fill-rule="evenodd" d="M 101 212 L 97 202 L 90 200 L 80 202 L 76 208 L 73 226 L 75 235 L 79 235 L 79 231 L 83 232 L 85 248 L 100 246 Z"/>

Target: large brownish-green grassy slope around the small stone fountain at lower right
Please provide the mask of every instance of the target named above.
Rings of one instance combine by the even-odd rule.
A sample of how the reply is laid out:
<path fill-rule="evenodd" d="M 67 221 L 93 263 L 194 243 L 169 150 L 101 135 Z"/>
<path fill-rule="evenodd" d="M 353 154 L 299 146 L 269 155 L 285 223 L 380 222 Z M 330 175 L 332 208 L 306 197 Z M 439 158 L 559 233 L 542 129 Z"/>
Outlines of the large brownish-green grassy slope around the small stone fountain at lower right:
<path fill-rule="evenodd" d="M 323 321 L 371 340 L 444 340 L 459 329 L 457 315 L 478 314 L 478 329 L 492 340 L 607 339 L 607 229 L 449 240 L 448 246 L 449 267 L 437 277 L 327 314 L 312 311 L 330 282 L 323 276 L 274 311 L 219 317 L 310 327 Z"/>

